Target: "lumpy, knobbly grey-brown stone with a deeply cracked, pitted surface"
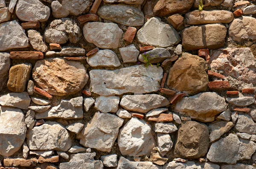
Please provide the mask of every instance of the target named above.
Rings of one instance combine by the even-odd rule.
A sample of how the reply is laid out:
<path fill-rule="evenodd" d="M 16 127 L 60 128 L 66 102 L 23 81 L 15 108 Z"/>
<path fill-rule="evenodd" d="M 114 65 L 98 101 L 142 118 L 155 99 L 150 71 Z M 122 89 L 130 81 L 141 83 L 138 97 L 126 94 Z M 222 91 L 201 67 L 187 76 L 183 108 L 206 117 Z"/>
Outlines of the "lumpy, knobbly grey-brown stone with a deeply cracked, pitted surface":
<path fill-rule="evenodd" d="M 47 43 L 64 44 L 68 40 L 71 43 L 77 43 L 81 36 L 79 26 L 71 18 L 53 20 L 44 31 L 44 39 Z"/>

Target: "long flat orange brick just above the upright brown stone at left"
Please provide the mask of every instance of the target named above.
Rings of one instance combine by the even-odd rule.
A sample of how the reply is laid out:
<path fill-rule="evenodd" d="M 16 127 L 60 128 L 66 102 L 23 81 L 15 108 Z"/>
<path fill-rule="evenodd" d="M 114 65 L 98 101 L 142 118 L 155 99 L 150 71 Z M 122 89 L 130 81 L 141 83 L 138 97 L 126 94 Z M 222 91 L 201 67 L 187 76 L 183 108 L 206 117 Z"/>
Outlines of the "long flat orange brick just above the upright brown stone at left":
<path fill-rule="evenodd" d="M 44 59 L 43 52 L 26 51 L 26 52 L 10 52 L 11 59 Z"/>

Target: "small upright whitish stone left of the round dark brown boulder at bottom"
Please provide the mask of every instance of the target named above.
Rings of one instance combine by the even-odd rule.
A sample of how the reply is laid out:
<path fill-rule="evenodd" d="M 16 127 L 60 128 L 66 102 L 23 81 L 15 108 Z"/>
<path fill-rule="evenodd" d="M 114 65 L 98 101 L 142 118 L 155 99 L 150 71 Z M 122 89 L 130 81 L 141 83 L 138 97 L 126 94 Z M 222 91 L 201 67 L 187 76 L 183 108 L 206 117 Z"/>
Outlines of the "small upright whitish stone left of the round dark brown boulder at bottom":
<path fill-rule="evenodd" d="M 162 156 L 172 149 L 173 143 L 171 136 L 166 133 L 157 133 L 157 149 Z"/>

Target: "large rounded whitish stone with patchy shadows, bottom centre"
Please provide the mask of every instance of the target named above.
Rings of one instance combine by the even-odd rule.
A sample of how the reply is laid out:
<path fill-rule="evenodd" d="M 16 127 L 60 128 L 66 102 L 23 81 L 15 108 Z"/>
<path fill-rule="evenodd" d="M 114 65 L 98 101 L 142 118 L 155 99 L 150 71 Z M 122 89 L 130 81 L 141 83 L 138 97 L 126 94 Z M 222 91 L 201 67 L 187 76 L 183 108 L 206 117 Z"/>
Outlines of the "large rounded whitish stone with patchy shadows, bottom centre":
<path fill-rule="evenodd" d="M 122 155 L 147 155 L 155 146 L 151 125 L 138 118 L 131 118 L 118 135 L 118 146 Z"/>

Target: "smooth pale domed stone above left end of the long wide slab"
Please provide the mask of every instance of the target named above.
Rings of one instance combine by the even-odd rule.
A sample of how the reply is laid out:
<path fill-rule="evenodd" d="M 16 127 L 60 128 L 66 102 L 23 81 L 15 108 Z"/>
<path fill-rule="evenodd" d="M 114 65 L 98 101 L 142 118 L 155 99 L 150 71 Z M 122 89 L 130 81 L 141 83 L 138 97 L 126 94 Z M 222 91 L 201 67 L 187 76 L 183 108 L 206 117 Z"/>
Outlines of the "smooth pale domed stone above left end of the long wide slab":
<path fill-rule="evenodd" d="M 115 52 L 105 49 L 99 50 L 96 54 L 87 57 L 87 63 L 92 67 L 118 67 L 121 65 Z"/>

